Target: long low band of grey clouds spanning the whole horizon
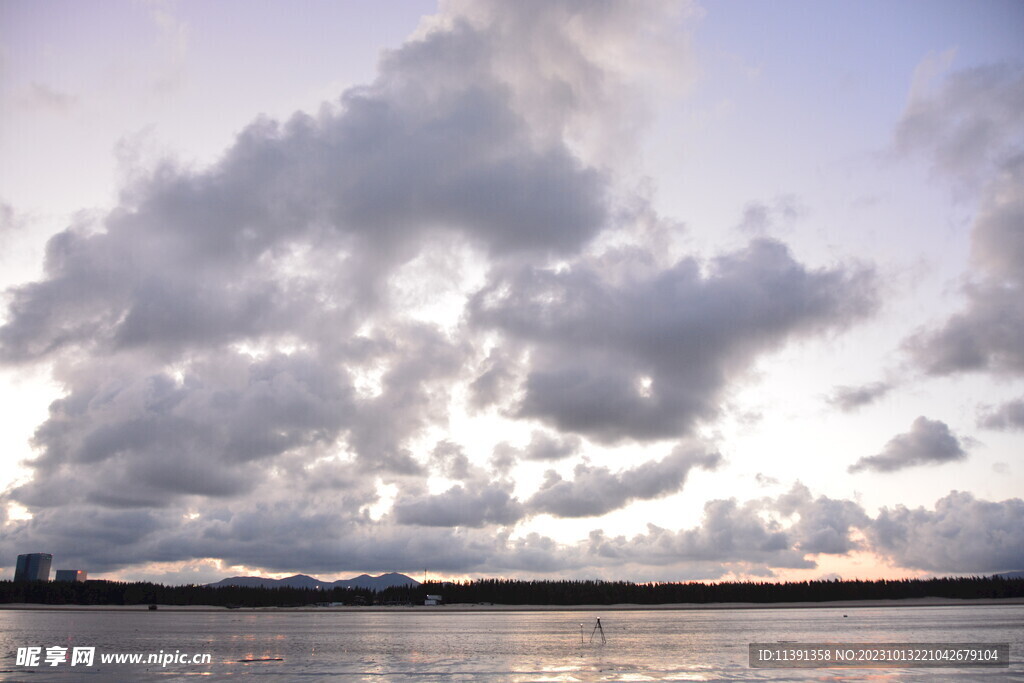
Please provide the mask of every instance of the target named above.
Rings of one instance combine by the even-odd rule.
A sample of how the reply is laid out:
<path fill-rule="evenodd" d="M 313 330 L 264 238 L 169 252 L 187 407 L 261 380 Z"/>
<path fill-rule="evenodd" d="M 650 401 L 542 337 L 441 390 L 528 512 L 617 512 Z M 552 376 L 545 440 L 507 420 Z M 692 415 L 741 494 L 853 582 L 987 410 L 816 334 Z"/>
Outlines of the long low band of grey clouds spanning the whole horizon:
<path fill-rule="evenodd" d="M 366 506 L 376 495 L 350 465 L 325 462 L 311 470 L 296 465 L 264 481 L 258 499 L 224 500 L 198 513 L 188 506 L 173 514 L 87 504 L 40 509 L 31 520 L 8 524 L 0 550 L 10 554 L 41 544 L 54 549 L 61 563 L 95 572 L 215 557 L 283 572 L 426 566 L 480 575 L 592 577 L 624 567 L 665 567 L 666 575 L 715 579 L 812 569 L 815 555 L 855 550 L 935 572 L 987 573 L 1024 564 L 1019 499 L 988 502 L 954 492 L 934 509 L 884 508 L 872 519 L 853 501 L 815 497 L 798 484 L 775 499 L 709 501 L 700 521 L 688 528 L 650 525 L 633 537 L 595 529 L 584 542 L 565 544 L 536 532 L 513 537 L 509 528 L 496 533 L 493 526 L 375 521 Z M 290 495 L 299 486 L 307 492 L 301 499 Z"/>

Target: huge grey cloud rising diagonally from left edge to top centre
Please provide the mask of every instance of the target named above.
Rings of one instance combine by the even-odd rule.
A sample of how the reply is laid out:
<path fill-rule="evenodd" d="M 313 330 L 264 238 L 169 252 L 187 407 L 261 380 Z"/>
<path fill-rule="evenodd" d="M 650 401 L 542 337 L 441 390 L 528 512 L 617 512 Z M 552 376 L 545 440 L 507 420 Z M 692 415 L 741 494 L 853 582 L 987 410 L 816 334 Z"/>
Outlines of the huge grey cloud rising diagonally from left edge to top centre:
<path fill-rule="evenodd" d="M 514 13 L 494 9 L 503 20 Z M 606 10 L 578 11 L 586 24 L 588 11 Z M 607 223 L 608 178 L 562 138 L 535 135 L 543 102 L 518 92 L 526 86 L 510 60 L 545 45 L 528 26 L 481 22 L 456 17 L 389 52 L 377 81 L 337 106 L 257 120 L 217 164 L 165 164 L 98 224 L 58 233 L 45 280 L 11 293 L 0 358 L 181 353 L 344 325 L 447 234 L 495 256 L 577 250 Z M 573 61 L 597 69 L 586 51 Z M 587 92 L 582 83 L 579 96 Z M 559 111 L 571 117 L 578 105 Z"/>

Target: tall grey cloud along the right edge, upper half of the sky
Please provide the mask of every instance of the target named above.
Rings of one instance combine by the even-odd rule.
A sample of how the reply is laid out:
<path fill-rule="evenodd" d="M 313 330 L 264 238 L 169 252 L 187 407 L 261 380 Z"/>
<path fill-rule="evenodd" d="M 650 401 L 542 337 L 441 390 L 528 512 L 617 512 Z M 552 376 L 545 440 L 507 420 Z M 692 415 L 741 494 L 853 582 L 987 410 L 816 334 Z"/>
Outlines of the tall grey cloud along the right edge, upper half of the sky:
<path fill-rule="evenodd" d="M 897 144 L 930 156 L 957 181 L 982 187 L 971 233 L 967 304 L 907 340 L 933 375 L 1024 374 L 1024 68 L 999 65 L 950 75 L 919 95 Z"/>

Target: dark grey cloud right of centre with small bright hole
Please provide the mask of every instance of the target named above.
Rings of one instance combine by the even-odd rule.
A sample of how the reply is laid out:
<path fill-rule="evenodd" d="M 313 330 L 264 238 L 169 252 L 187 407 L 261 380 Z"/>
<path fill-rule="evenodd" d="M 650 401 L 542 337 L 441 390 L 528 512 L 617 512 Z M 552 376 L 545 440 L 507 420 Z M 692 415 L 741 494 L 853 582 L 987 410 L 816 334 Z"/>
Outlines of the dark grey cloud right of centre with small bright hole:
<path fill-rule="evenodd" d="M 872 306 L 870 271 L 812 270 L 757 240 L 706 273 L 693 259 L 621 282 L 596 259 L 520 268 L 471 309 L 476 325 L 534 345 L 519 416 L 616 441 L 687 433 L 717 415 L 723 389 L 760 353 Z"/>

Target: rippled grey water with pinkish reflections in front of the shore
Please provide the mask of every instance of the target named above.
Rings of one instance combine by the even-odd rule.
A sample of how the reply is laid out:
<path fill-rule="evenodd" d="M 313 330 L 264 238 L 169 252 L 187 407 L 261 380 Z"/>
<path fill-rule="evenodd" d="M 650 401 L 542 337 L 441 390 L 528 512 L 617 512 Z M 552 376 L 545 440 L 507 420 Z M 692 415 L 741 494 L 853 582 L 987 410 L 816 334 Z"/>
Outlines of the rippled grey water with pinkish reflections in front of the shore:
<path fill-rule="evenodd" d="M 751 643 L 823 642 L 1010 643 L 1010 666 L 751 667 Z M 140 660 L 131 661 L 134 655 Z M 151 660 L 150 655 L 157 658 Z M 0 680 L 33 682 L 1024 681 L 1024 605 L 608 611 L 10 609 L 0 610 Z"/>

